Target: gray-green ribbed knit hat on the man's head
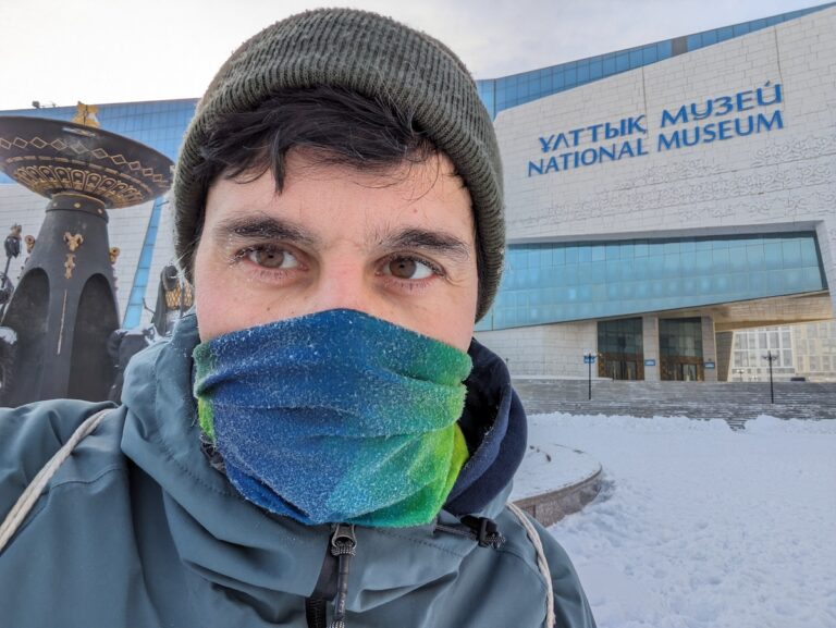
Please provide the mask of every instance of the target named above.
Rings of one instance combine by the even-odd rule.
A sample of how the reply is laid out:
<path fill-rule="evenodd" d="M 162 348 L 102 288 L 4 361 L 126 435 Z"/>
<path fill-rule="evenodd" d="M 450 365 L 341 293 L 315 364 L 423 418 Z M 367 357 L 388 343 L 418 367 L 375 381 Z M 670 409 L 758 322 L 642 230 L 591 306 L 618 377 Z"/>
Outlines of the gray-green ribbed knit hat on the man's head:
<path fill-rule="evenodd" d="M 253 111 L 280 89 L 317 86 L 384 95 L 446 153 L 472 199 L 479 248 L 477 320 L 491 306 L 505 253 L 502 163 L 491 118 L 462 61 L 443 44 L 389 17 L 320 9 L 276 22 L 218 72 L 186 131 L 174 176 L 176 253 L 192 276 L 206 196 L 195 176 L 220 118 Z"/>

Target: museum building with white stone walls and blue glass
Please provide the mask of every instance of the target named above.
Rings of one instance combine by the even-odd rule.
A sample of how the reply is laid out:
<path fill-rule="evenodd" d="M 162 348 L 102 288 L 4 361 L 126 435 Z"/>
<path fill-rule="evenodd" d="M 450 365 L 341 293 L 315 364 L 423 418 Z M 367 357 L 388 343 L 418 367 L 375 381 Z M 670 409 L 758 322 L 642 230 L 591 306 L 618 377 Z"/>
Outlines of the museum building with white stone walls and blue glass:
<path fill-rule="evenodd" d="M 590 355 L 600 377 L 722 381 L 742 379 L 735 331 L 832 321 L 834 33 L 832 2 L 479 81 L 509 244 L 477 337 L 515 375 L 585 377 Z M 195 104 L 99 104 L 96 115 L 175 159 Z M 38 107 L 0 115 L 76 114 Z M 0 175 L 0 225 L 37 234 L 42 211 Z M 148 322 L 171 233 L 164 198 L 110 213 L 123 327 Z M 836 371 L 834 343 L 824 350 Z M 776 354 L 798 371 L 791 350 Z"/>

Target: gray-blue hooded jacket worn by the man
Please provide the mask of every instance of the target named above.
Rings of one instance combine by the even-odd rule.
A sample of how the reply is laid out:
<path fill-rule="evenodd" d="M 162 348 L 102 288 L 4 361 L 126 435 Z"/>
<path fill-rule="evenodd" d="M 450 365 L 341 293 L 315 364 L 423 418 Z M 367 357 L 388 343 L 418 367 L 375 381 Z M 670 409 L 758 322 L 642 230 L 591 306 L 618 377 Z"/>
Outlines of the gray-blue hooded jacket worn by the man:
<path fill-rule="evenodd" d="M 263 512 L 212 467 L 190 393 L 196 343 L 187 317 L 171 342 L 132 361 L 123 405 L 82 441 L 0 554 L 0 626 L 307 626 L 305 600 L 328 580 L 331 528 Z M 475 359 L 477 367 L 484 361 Z M 488 361 L 491 379 L 497 367 Z M 102 407 L 61 399 L 0 410 L 0 519 L 75 428 Z M 484 468 L 471 468 L 457 504 L 481 498 L 471 515 L 494 520 L 505 542 L 480 546 L 456 533 L 467 527 L 454 507 L 433 525 L 357 528 L 347 628 L 544 625 L 545 586 L 531 541 L 504 506 L 507 478 L 483 495 L 501 478 L 495 466 L 503 459 L 502 439 L 490 442 L 495 427 L 484 431 L 494 463 L 485 465 L 478 452 L 471 457 Z M 556 626 L 594 626 L 569 559 L 538 529 Z"/>

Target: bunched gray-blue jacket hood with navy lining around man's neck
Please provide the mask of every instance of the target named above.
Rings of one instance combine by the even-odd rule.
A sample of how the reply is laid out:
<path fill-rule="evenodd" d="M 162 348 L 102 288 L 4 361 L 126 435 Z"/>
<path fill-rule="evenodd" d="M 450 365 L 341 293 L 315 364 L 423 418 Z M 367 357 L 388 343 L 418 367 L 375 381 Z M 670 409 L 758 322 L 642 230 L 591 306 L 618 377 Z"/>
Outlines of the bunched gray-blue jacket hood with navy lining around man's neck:
<path fill-rule="evenodd" d="M 181 561 L 204 579 L 246 595 L 268 616 L 275 591 L 310 595 L 331 529 L 266 513 L 212 468 L 200 445 L 192 395 L 192 352 L 198 342 L 192 313 L 180 321 L 170 342 L 131 361 L 123 390 L 127 416 L 122 451 L 162 489 L 164 516 Z M 474 371 L 466 382 L 460 424 L 470 458 L 439 516 L 441 522 L 466 514 L 496 518 L 525 453 L 526 418 L 507 369 L 476 341 L 469 353 Z M 434 525 L 358 528 L 357 544 L 348 600 L 355 608 L 373 607 L 457 571 L 475 546 L 434 532 Z M 364 552 L 364 545 L 373 552 Z M 428 551 L 434 554 L 431 559 Z M 398 559 L 382 562 L 385 556 Z"/>

